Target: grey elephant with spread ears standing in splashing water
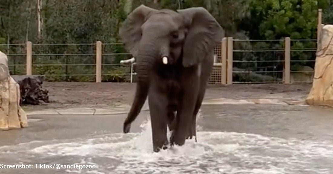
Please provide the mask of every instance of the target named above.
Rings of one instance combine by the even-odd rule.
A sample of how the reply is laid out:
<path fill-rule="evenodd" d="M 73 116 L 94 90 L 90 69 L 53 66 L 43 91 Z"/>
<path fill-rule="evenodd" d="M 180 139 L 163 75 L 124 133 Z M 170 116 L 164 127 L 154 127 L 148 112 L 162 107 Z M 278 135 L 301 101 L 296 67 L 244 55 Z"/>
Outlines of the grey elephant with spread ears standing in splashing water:
<path fill-rule="evenodd" d="M 140 5 L 127 16 L 118 35 L 134 57 L 127 62 L 136 62 L 137 84 L 124 133 L 148 98 L 154 152 L 196 140 L 196 115 L 222 32 L 203 7 L 174 11 Z"/>

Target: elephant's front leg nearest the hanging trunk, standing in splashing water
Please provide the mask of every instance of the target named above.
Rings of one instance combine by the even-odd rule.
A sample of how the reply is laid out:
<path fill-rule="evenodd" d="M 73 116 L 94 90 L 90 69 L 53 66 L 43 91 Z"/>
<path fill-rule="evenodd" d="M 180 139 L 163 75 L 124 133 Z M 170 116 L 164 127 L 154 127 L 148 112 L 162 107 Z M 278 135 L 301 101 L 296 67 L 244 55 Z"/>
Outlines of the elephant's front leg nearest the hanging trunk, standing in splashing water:
<path fill-rule="evenodd" d="M 153 148 L 154 152 L 159 152 L 161 148 L 166 149 L 168 144 L 166 136 L 167 126 L 167 97 L 157 86 L 152 85 L 148 96 L 150 110 Z"/>

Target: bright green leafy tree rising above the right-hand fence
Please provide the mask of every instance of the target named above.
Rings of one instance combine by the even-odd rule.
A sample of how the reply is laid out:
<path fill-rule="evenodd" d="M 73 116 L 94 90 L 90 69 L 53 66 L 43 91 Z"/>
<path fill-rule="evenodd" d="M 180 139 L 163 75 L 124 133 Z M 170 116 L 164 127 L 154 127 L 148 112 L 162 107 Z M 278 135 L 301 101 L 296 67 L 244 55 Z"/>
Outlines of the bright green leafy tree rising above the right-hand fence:
<path fill-rule="evenodd" d="M 260 36 L 265 39 L 315 38 L 317 1 L 252 0 L 252 14 L 260 15 Z"/>

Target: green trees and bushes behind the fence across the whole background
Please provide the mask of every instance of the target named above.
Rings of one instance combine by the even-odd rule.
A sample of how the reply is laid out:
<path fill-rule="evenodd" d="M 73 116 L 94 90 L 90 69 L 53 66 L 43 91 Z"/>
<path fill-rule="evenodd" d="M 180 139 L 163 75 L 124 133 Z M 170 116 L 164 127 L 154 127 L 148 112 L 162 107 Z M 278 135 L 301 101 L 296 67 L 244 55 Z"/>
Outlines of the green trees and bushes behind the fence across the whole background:
<path fill-rule="evenodd" d="M 162 9 L 205 7 L 225 30 L 226 37 L 235 39 L 315 39 L 317 10 L 323 9 L 323 23 L 333 23 L 333 4 L 329 0 L 42 0 L 41 37 L 38 37 L 37 0 L 0 1 L 0 44 L 33 43 L 64 45 L 33 45 L 34 74 L 47 76 L 50 81 L 94 81 L 96 41 L 120 43 L 118 30 L 127 15 L 141 4 Z M 66 45 L 87 43 L 88 45 Z M 93 44 L 93 45 L 89 45 Z M 292 41 L 292 50 L 315 49 L 316 43 Z M 238 42 L 234 49 L 283 49 L 284 42 Z M 0 50 L 22 54 L 24 46 L 0 45 Z M 118 64 L 131 58 L 122 44 L 103 45 L 103 64 Z M 42 55 L 38 55 L 42 54 Z M 45 55 L 52 54 L 52 55 Z M 73 54 L 64 56 L 63 54 Z M 91 55 L 90 55 L 91 54 Z M 292 60 L 314 59 L 314 52 L 293 51 Z M 235 60 L 276 60 L 283 52 L 237 52 Z M 24 64 L 24 56 L 10 56 L 10 64 Z M 304 65 L 292 62 L 292 67 Z M 280 66 L 267 63 L 235 63 L 239 68 L 260 70 L 261 67 Z M 313 67 L 313 64 L 307 64 Z M 11 72 L 24 73 L 24 66 L 11 66 Z M 129 81 L 129 67 L 103 66 L 103 81 Z M 67 74 L 61 76 L 59 74 Z M 78 76 L 69 74 L 90 74 Z M 126 75 L 124 75 L 126 74 Z"/>

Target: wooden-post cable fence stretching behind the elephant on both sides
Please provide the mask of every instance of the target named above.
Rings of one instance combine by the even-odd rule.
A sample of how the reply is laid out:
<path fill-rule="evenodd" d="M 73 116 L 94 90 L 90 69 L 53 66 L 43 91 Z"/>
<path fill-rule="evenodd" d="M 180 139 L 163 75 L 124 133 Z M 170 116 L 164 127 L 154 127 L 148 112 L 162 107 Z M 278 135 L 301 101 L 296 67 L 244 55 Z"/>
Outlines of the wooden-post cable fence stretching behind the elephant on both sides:
<path fill-rule="evenodd" d="M 214 48 L 209 84 L 311 82 L 316 41 L 223 38 Z M 123 43 L 0 44 L 11 74 L 46 81 L 136 82 L 136 64 Z"/>

